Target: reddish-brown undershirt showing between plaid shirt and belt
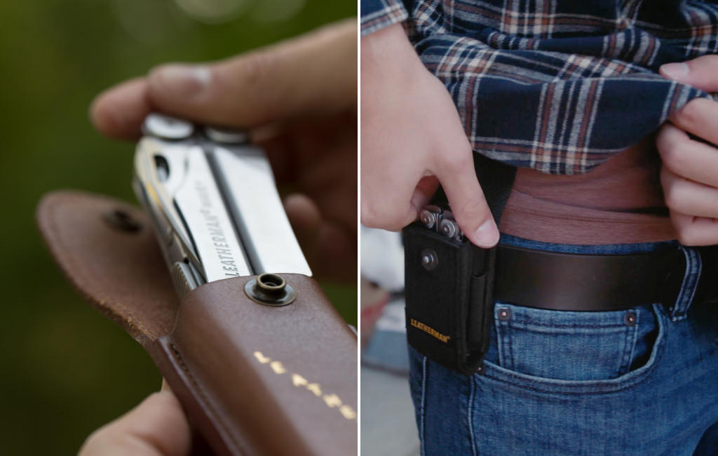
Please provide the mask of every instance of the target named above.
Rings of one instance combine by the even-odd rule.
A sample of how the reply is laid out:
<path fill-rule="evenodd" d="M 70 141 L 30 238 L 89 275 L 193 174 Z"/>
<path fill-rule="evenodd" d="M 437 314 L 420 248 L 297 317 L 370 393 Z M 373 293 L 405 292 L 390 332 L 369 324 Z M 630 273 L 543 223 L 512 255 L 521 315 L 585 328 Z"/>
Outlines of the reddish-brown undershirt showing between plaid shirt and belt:
<path fill-rule="evenodd" d="M 585 175 L 521 168 L 501 218 L 501 233 L 550 243 L 668 241 L 676 232 L 661 190 L 653 136 Z"/>

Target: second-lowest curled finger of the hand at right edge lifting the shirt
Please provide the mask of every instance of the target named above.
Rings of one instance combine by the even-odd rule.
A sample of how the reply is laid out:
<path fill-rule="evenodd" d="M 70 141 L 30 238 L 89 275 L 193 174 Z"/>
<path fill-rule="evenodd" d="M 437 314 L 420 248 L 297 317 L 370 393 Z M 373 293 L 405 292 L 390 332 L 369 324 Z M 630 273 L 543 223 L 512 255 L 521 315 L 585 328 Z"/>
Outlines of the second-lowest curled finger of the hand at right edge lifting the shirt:
<path fill-rule="evenodd" d="M 696 217 L 718 217 L 718 189 L 676 175 L 661 168 L 661 185 L 666 206 Z"/>

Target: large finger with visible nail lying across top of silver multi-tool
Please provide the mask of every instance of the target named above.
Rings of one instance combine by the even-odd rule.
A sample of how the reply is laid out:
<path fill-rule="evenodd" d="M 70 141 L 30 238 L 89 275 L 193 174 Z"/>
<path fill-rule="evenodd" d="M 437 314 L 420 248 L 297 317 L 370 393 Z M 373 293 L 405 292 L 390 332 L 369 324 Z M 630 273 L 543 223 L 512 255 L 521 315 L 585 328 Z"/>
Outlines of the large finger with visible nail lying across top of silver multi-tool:
<path fill-rule="evenodd" d="M 356 102 L 356 25 L 341 22 L 210 65 L 162 65 L 149 74 L 160 111 L 251 127 L 337 112 Z"/>

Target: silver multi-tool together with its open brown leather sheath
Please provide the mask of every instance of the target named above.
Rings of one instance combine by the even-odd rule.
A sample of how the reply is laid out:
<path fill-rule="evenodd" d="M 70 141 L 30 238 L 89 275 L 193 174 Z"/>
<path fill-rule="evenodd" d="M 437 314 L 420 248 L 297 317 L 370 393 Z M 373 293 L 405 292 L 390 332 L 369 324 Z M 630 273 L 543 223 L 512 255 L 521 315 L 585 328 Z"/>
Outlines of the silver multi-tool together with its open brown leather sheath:
<path fill-rule="evenodd" d="M 247 139 L 152 114 L 135 155 L 146 214 L 54 192 L 40 230 L 75 287 L 149 353 L 213 454 L 356 454 L 357 338 L 309 277 Z"/>

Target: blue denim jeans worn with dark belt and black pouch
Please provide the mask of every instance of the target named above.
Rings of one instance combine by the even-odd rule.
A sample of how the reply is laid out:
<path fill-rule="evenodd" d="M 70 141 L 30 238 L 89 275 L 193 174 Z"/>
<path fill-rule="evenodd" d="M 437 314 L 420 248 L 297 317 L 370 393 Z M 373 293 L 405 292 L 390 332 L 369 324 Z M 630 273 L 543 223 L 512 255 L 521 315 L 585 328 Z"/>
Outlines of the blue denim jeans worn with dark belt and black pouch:
<path fill-rule="evenodd" d="M 718 303 L 691 306 L 695 249 L 502 243 L 571 253 L 681 248 L 686 275 L 675 303 L 631 310 L 496 302 L 491 348 L 473 376 L 410 347 L 422 455 L 718 455 Z"/>

